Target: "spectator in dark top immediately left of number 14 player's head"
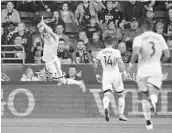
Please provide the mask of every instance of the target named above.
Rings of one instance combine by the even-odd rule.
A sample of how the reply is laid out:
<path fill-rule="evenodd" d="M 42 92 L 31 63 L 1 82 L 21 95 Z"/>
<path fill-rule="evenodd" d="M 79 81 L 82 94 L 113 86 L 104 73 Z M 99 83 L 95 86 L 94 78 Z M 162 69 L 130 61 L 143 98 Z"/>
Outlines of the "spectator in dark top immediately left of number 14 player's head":
<path fill-rule="evenodd" d="M 93 61 L 96 59 L 96 56 L 100 50 L 105 48 L 104 43 L 100 40 L 100 32 L 93 33 L 93 39 L 91 40 L 91 45 L 89 48 L 89 52 L 93 57 Z"/>

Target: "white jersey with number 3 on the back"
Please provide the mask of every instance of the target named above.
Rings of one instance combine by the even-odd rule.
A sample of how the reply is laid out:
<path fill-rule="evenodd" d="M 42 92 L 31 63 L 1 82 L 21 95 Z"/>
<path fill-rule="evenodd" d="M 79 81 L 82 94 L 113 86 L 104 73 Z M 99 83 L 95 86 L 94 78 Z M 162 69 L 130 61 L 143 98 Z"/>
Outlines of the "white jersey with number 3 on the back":
<path fill-rule="evenodd" d="M 138 76 L 162 74 L 161 56 L 168 46 L 162 35 L 152 31 L 134 38 L 133 49 L 140 47 L 138 60 Z"/>

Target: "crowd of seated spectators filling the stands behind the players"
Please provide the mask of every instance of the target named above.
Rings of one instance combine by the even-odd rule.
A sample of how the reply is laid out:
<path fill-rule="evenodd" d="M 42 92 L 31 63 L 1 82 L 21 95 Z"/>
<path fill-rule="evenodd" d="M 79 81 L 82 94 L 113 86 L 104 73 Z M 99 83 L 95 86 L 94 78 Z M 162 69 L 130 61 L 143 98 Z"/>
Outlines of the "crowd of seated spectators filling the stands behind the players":
<path fill-rule="evenodd" d="M 142 22 L 151 19 L 154 31 L 167 41 L 172 63 L 172 1 L 81 0 L 1 1 L 2 63 L 41 64 L 44 34 L 37 28 L 41 17 L 59 39 L 57 56 L 62 64 L 92 64 L 105 48 L 104 38 L 114 38 L 124 63 L 129 63 L 133 38 L 143 33 Z"/>

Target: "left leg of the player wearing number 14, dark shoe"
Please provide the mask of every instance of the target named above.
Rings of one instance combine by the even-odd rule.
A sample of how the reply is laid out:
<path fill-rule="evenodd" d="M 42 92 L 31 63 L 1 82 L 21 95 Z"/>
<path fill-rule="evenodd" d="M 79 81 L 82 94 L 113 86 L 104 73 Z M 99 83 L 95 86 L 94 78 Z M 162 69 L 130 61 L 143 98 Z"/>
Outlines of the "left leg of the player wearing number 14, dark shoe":
<path fill-rule="evenodd" d="M 103 107 L 105 112 L 105 120 L 109 121 L 109 104 L 110 104 L 110 97 L 112 95 L 112 85 L 108 81 L 102 82 L 102 89 L 103 89 Z"/>

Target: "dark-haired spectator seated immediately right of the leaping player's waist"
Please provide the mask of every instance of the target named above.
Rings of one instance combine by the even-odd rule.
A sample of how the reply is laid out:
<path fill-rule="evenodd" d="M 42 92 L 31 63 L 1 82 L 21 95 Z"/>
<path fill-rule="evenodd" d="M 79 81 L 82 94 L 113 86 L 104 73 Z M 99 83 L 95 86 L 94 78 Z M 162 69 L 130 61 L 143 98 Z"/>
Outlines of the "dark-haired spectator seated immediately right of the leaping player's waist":
<path fill-rule="evenodd" d="M 57 51 L 57 56 L 59 57 L 61 64 L 71 64 L 72 58 L 69 51 L 65 49 L 65 40 L 60 38 L 59 39 L 59 47 Z"/>

